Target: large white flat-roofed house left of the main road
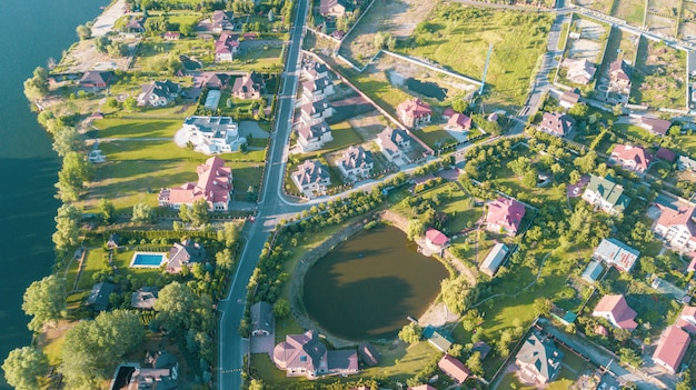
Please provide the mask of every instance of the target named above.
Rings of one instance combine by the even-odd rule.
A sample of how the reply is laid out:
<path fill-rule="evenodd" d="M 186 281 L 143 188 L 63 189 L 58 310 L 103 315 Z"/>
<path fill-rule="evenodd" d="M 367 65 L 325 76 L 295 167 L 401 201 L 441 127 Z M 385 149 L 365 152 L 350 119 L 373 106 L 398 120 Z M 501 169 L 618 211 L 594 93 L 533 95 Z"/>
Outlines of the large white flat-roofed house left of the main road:
<path fill-rule="evenodd" d="M 239 150 L 247 139 L 239 137 L 237 123 L 230 117 L 189 117 L 181 127 L 183 137 L 196 151 L 206 154 Z"/>

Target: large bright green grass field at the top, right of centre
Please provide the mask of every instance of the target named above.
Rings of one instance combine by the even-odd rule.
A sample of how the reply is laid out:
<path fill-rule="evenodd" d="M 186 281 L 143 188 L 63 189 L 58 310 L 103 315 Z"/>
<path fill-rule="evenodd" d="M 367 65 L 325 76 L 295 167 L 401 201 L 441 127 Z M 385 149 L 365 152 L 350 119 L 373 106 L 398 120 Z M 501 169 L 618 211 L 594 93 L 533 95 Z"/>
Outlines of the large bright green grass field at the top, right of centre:
<path fill-rule="evenodd" d="M 493 44 L 486 77 L 490 100 L 519 106 L 535 64 L 546 49 L 550 23 L 547 14 L 447 4 L 420 23 L 410 42 L 399 51 L 480 79 L 488 47 Z M 466 61 L 461 60 L 463 53 Z"/>

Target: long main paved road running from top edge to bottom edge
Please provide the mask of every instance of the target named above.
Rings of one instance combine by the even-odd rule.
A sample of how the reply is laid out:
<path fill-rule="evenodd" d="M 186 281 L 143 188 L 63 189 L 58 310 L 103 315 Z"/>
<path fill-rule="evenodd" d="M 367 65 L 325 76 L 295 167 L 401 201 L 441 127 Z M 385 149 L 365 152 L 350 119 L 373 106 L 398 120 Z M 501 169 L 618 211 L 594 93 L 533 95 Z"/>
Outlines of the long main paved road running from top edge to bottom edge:
<path fill-rule="evenodd" d="M 299 53 L 307 16 L 307 0 L 298 2 L 280 92 L 286 98 L 278 100 L 276 129 L 271 134 L 271 149 L 266 164 L 265 186 L 258 204 L 258 214 L 256 221 L 247 223 L 242 231 L 247 244 L 239 260 L 227 299 L 218 304 L 220 311 L 218 389 L 220 390 L 235 390 L 242 384 L 242 356 L 246 352 L 247 342 L 239 337 L 237 328 L 245 313 L 247 283 L 256 268 L 264 243 L 280 218 L 288 213 L 295 214 L 306 207 L 278 201 L 278 199 L 284 199 L 281 187 L 287 158 L 286 143 L 290 136 L 295 107 L 294 97 L 299 78 Z"/>

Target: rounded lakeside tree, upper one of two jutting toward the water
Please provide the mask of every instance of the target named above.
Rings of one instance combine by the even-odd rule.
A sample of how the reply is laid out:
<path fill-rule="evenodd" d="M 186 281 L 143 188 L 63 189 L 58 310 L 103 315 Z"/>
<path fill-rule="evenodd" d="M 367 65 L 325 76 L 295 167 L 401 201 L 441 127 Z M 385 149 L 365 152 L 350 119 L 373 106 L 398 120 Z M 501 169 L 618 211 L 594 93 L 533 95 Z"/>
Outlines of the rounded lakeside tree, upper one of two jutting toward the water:
<path fill-rule="evenodd" d="M 33 318 L 27 327 L 34 332 L 41 331 L 43 326 L 59 320 L 67 309 L 66 279 L 56 276 L 34 281 L 24 291 L 22 310 Z"/>

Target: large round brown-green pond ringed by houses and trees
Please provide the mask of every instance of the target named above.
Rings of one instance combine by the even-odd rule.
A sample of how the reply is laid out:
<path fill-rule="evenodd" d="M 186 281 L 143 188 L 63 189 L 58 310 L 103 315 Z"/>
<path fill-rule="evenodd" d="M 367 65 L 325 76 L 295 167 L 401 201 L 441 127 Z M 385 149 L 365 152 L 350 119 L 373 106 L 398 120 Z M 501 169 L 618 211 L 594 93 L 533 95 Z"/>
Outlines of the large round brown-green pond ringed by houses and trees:
<path fill-rule="evenodd" d="M 448 272 L 417 251 L 406 233 L 378 226 L 335 248 L 305 276 L 309 317 L 347 340 L 396 337 L 435 300 Z"/>

